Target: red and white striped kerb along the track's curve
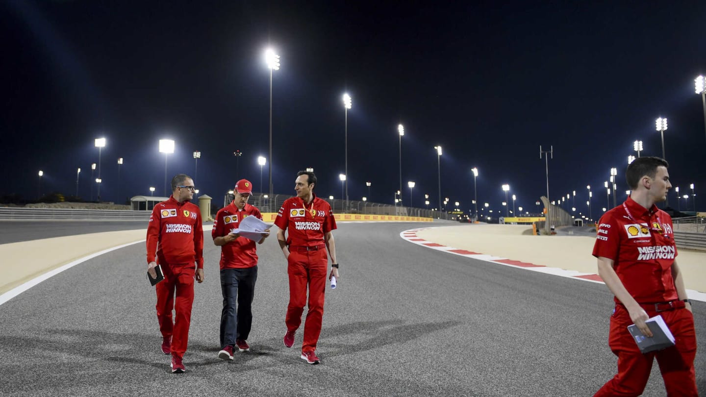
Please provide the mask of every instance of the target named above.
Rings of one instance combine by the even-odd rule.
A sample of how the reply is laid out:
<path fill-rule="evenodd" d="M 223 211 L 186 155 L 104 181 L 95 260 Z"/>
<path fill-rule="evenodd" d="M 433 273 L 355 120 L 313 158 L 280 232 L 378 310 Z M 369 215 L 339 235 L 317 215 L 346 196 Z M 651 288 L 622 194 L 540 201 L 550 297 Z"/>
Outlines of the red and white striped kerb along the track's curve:
<path fill-rule="evenodd" d="M 466 258 L 478 259 L 479 261 L 486 261 L 514 268 L 522 268 L 524 270 L 536 271 L 544 274 L 558 275 L 559 277 L 573 278 L 574 280 L 589 281 L 590 283 L 604 284 L 600 276 L 594 273 L 581 273 L 579 271 L 567 270 L 563 268 L 554 268 L 551 266 L 535 265 L 534 263 L 513 261 L 507 258 L 503 258 L 501 256 L 492 256 L 480 254 L 478 252 L 467 251 L 465 249 L 447 247 L 443 244 L 437 244 L 435 242 L 426 241 L 425 239 L 417 237 L 417 232 L 419 232 L 420 230 L 428 230 L 433 228 L 434 227 L 419 227 L 417 229 L 405 230 L 403 232 L 400 232 L 400 237 L 402 239 L 407 240 L 408 242 L 411 242 L 412 244 L 417 244 L 421 247 L 435 249 L 436 251 L 448 252 L 449 254 L 454 254 L 458 256 L 465 256 Z M 706 302 L 706 293 L 698 292 L 696 290 L 686 290 L 686 292 L 689 296 L 689 299 Z"/>

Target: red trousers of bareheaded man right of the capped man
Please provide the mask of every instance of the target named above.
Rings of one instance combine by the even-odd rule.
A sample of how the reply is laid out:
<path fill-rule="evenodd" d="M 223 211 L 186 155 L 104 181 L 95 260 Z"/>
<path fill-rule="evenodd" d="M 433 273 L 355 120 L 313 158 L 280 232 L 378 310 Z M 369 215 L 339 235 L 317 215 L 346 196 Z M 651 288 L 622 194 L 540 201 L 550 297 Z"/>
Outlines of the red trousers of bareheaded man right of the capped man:
<path fill-rule="evenodd" d="M 316 251 L 289 247 L 287 273 L 289 273 L 289 305 L 285 324 L 287 331 L 296 331 L 301 325 L 301 314 L 306 305 L 306 287 L 309 285 L 309 311 L 304 323 L 304 342 L 301 351 L 316 350 L 323 318 L 323 293 L 326 290 L 328 256 L 325 246 Z"/>

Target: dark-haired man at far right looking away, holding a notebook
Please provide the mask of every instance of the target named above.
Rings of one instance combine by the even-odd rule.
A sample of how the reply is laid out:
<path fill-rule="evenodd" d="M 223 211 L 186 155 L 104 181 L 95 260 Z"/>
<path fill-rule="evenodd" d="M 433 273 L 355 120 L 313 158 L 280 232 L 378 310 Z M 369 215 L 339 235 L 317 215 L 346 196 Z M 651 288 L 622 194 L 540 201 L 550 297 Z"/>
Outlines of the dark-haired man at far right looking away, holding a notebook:
<path fill-rule="evenodd" d="M 674 232 L 669 215 L 655 203 L 664 201 L 671 187 L 666 160 L 638 158 L 628 165 L 630 197 L 606 212 L 597 228 L 593 256 L 598 274 L 615 295 L 609 345 L 618 356 L 618 374 L 595 396 L 640 396 L 657 358 L 668 396 L 697 396 L 694 358 L 696 333 L 691 304 L 676 264 Z M 635 324 L 661 315 L 676 345 L 642 354 L 630 335 Z"/>

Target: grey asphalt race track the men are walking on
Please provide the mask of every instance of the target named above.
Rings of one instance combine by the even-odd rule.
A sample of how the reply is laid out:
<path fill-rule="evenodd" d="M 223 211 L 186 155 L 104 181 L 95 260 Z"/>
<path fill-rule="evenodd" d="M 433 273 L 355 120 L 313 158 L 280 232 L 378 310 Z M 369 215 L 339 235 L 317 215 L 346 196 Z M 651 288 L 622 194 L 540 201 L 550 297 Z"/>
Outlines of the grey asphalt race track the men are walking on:
<path fill-rule="evenodd" d="M 341 279 L 326 291 L 321 365 L 299 359 L 303 326 L 293 348 L 282 344 L 287 271 L 274 236 L 258 249 L 251 352 L 234 362 L 217 358 L 220 249 L 207 236 L 185 374 L 172 374 L 160 352 L 155 292 L 139 243 L 0 305 L 0 395 L 566 397 L 592 396 L 614 375 L 612 296 L 604 285 L 400 238 L 414 227 L 429 224 L 339 224 Z M 694 313 L 696 374 L 706 395 L 706 304 L 695 302 Z M 644 396 L 664 395 L 655 363 Z"/>

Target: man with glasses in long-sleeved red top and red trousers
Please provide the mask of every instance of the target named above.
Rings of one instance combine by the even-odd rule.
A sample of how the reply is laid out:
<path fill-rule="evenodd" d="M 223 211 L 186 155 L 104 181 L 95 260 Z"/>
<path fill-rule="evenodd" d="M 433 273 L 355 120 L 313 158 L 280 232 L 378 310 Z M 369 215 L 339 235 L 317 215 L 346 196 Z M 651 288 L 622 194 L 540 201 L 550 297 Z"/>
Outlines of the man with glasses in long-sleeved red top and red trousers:
<path fill-rule="evenodd" d="M 164 273 L 164 280 L 156 285 L 162 352 L 172 355 L 172 372 L 176 373 L 186 371 L 182 360 L 189 340 L 193 280 L 203 283 L 201 212 L 189 202 L 194 189 L 186 174 L 172 178 L 172 196 L 152 209 L 147 227 L 148 272 L 155 277 L 159 264 Z"/>

